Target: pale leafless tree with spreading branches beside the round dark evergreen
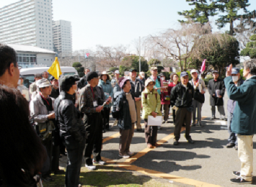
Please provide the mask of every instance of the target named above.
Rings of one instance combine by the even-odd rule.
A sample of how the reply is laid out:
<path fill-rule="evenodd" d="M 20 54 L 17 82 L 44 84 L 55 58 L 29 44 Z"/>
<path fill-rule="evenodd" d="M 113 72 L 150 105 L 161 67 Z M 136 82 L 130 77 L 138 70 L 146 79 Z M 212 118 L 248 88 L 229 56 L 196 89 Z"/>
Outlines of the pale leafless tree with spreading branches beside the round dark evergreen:
<path fill-rule="evenodd" d="M 169 28 L 157 35 L 148 36 L 148 42 L 152 49 L 164 57 L 171 57 L 178 61 L 181 71 L 187 71 L 191 57 L 200 36 L 211 33 L 211 25 L 200 23 L 181 23 L 179 29 Z"/>

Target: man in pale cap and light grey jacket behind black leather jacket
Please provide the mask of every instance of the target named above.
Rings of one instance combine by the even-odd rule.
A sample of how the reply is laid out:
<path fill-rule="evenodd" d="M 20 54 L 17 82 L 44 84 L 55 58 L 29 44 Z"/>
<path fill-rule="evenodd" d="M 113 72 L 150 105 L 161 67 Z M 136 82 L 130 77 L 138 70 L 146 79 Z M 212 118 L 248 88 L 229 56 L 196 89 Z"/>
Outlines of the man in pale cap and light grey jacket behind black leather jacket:
<path fill-rule="evenodd" d="M 34 118 L 34 122 L 37 123 L 45 123 L 50 120 L 53 121 L 55 119 L 53 100 L 49 97 L 52 85 L 48 79 L 38 80 L 37 85 L 38 93 L 29 103 L 30 116 Z M 45 146 L 50 158 L 50 169 L 48 172 L 42 173 L 42 179 L 45 181 L 52 181 L 53 178 L 51 178 L 50 173 L 52 165 L 53 134 L 50 133 L 48 138 L 42 140 L 42 144 Z"/>

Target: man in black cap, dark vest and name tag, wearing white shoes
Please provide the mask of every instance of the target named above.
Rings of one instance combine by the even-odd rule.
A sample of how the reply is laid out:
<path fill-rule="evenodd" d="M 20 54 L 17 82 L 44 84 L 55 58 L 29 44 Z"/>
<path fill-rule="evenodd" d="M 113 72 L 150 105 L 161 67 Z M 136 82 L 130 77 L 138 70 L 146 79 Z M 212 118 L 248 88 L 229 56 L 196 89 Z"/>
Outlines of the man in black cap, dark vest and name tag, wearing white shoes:
<path fill-rule="evenodd" d="M 89 84 L 80 89 L 79 93 L 79 111 L 83 116 L 83 124 L 86 126 L 86 151 L 85 161 L 89 170 L 95 170 L 94 164 L 105 164 L 102 161 L 100 153 L 102 150 L 102 114 L 103 103 L 107 101 L 107 105 L 111 99 L 102 100 L 101 89 L 97 87 L 99 83 L 98 73 L 89 72 L 86 75 L 86 81 Z M 91 160 L 93 154 L 93 160 Z"/>

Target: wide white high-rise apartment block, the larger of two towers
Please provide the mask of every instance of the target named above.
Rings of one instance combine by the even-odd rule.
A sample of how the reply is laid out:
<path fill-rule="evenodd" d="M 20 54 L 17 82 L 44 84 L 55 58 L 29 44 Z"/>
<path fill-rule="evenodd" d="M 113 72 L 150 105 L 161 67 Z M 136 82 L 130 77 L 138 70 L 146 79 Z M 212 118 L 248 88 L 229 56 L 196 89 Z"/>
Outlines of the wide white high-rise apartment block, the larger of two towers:
<path fill-rule="evenodd" d="M 0 43 L 53 50 L 52 0 L 21 0 L 0 8 Z"/>

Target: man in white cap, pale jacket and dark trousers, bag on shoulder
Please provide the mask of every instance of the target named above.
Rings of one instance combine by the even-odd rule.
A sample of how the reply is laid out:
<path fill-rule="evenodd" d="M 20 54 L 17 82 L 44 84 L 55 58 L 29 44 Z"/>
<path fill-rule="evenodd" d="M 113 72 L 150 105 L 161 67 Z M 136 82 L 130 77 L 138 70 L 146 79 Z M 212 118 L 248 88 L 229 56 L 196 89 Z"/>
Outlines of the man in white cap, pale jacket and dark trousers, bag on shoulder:
<path fill-rule="evenodd" d="M 195 126 L 195 114 L 197 113 L 197 126 L 203 127 L 201 111 L 202 106 L 205 100 L 205 92 L 206 92 L 206 84 L 203 79 L 198 78 L 197 70 L 192 69 L 190 72 L 192 76 L 192 80 L 189 83 L 194 87 L 194 97 L 192 98 L 192 105 L 194 106 L 194 110 L 192 111 L 192 124 L 191 126 Z"/>

